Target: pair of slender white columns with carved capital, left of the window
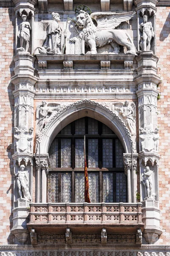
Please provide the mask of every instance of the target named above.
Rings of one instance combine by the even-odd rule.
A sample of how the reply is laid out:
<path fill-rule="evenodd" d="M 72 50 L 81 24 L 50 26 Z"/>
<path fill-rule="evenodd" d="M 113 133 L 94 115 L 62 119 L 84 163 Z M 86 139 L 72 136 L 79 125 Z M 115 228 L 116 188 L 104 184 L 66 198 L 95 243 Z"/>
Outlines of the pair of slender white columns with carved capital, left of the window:
<path fill-rule="evenodd" d="M 47 202 L 47 175 L 50 160 L 48 154 L 34 155 L 36 160 L 36 202 Z"/>

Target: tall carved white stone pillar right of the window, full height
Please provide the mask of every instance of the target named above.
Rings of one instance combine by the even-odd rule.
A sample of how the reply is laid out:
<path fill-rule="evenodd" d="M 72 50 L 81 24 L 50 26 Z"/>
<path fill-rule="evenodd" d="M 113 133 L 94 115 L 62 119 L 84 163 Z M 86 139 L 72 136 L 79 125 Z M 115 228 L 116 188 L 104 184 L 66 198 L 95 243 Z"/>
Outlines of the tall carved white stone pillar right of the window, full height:
<path fill-rule="evenodd" d="M 154 243 L 161 234 L 159 224 L 159 130 L 157 129 L 157 86 L 160 77 L 157 76 L 156 52 L 156 0 L 143 3 L 136 0 L 138 22 L 144 23 L 142 17 L 147 16 L 151 22 L 154 38 L 151 39 L 150 50 L 142 51 L 136 61 L 137 76 L 134 79 L 138 86 L 139 111 L 139 169 L 140 169 L 140 198 L 142 201 L 142 221 L 144 222 L 144 237 L 148 243 Z M 138 24 L 140 26 L 140 24 Z M 141 33 L 141 32 L 140 32 Z M 141 34 L 138 34 L 139 43 Z M 148 45 L 148 42 L 147 42 Z M 141 47 L 139 48 L 141 49 Z"/>

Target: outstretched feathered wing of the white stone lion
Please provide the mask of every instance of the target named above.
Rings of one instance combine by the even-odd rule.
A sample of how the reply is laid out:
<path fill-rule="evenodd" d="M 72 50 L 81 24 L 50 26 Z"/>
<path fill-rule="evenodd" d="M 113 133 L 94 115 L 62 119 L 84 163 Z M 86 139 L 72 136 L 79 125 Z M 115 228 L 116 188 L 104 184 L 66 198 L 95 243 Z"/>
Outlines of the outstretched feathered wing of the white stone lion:
<path fill-rule="evenodd" d="M 91 18 L 96 20 L 97 27 L 96 29 L 103 30 L 103 29 L 115 29 L 119 26 L 120 23 L 130 20 L 136 12 L 93 12 L 91 13 Z"/>

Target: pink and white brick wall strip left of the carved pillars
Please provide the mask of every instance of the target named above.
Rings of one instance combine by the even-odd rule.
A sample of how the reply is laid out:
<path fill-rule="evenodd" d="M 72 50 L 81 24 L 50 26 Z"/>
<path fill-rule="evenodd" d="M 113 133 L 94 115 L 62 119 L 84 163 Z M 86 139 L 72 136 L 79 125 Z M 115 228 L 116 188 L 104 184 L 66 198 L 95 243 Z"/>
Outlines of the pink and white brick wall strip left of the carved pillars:
<path fill-rule="evenodd" d="M 12 244 L 14 97 L 10 79 L 14 75 L 14 23 L 12 7 L 0 7 L 0 244 Z"/>

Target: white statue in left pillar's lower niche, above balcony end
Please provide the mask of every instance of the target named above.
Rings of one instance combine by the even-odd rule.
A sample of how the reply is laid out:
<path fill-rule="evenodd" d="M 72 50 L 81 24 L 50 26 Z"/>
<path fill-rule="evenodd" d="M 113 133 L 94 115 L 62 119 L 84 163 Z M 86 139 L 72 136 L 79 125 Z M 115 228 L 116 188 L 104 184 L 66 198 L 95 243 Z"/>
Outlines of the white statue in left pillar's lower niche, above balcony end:
<path fill-rule="evenodd" d="M 28 200 L 31 200 L 31 195 L 28 189 L 28 177 L 25 171 L 25 166 L 23 164 L 20 166 L 20 171 L 18 171 L 17 174 L 14 173 L 14 177 L 17 178 L 17 187 L 20 199 L 27 198 Z"/>

